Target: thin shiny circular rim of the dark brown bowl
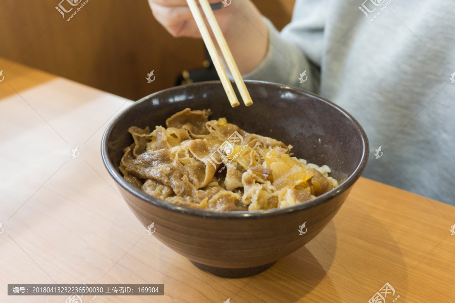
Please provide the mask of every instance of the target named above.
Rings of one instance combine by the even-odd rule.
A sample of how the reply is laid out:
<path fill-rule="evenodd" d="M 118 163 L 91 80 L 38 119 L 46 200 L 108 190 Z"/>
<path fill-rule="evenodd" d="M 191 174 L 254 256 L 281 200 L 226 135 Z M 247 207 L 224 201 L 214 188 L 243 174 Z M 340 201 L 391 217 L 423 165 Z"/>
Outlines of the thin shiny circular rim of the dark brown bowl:
<path fill-rule="evenodd" d="M 234 83 L 234 81 L 232 81 Z M 275 217 L 278 215 L 286 214 L 286 213 L 292 213 L 292 212 L 297 212 L 303 209 L 308 209 L 320 204 L 323 204 L 335 196 L 338 196 L 340 193 L 348 190 L 356 181 L 357 179 L 361 176 L 363 170 L 366 167 L 366 164 L 368 162 L 368 154 L 369 154 L 369 142 L 368 142 L 368 137 L 367 134 L 365 133 L 365 130 L 362 128 L 362 126 L 357 122 L 357 120 L 352 117 L 347 111 L 345 111 L 343 108 L 340 106 L 336 105 L 335 103 L 310 92 L 307 92 L 305 90 L 297 89 L 292 86 L 280 84 L 280 83 L 274 83 L 274 82 L 267 82 L 267 81 L 257 81 L 257 80 L 245 80 L 246 83 L 252 83 L 253 85 L 255 84 L 266 84 L 266 85 L 271 85 L 275 86 L 276 88 L 279 89 L 287 89 L 287 90 L 293 90 L 297 91 L 299 93 L 303 93 L 304 95 L 308 95 L 310 97 L 319 99 L 322 102 L 328 103 L 329 105 L 337 108 L 341 113 L 343 113 L 352 123 L 357 127 L 359 133 L 360 133 L 360 138 L 362 142 L 362 157 L 355 168 L 354 172 L 341 183 L 338 185 L 336 188 L 332 189 L 331 191 L 322 194 L 314 199 L 308 200 L 308 202 L 303 202 L 294 206 L 289 206 L 285 208 L 274 208 L 274 209 L 266 209 L 266 210 L 231 210 L 231 211 L 217 211 L 217 210 L 206 210 L 206 209 L 198 209 L 198 208 L 193 208 L 190 206 L 181 206 L 177 204 L 172 204 L 170 202 L 161 200 L 159 198 L 155 198 L 149 194 L 146 194 L 142 190 L 134 187 L 130 183 L 128 183 L 126 180 L 123 179 L 123 177 L 120 175 L 120 172 L 117 170 L 116 167 L 111 165 L 109 156 L 108 156 L 108 144 L 107 144 L 107 139 L 109 138 L 109 135 L 111 134 L 112 128 L 114 124 L 117 123 L 117 121 L 126 114 L 128 110 L 130 110 L 133 106 L 137 106 L 143 102 L 146 102 L 147 100 L 153 98 L 154 96 L 157 96 L 159 94 L 162 94 L 163 92 L 172 92 L 172 91 L 177 91 L 177 90 L 182 90 L 187 88 L 188 86 L 203 86 L 203 85 L 213 85 L 213 84 L 220 84 L 221 82 L 219 80 L 214 80 L 214 81 L 204 81 L 204 82 L 196 82 L 196 83 L 190 83 L 190 84 L 185 84 L 185 85 L 180 85 L 180 86 L 173 86 L 172 88 L 168 88 L 156 93 L 153 93 L 151 95 L 145 96 L 141 98 L 140 100 L 134 102 L 124 110 L 122 110 L 120 113 L 118 113 L 109 123 L 107 126 L 103 138 L 101 141 L 101 156 L 103 159 L 104 166 L 109 172 L 109 175 L 114 179 L 114 181 L 117 183 L 117 186 L 121 186 L 123 189 L 128 191 L 130 194 L 133 196 L 136 196 L 148 203 L 151 203 L 155 206 L 164 208 L 167 211 L 177 211 L 181 214 L 188 214 L 188 215 L 193 215 L 196 217 L 206 217 L 206 218 L 222 218 L 222 219 L 242 219 L 242 218 L 263 218 L 263 217 Z M 167 213 L 166 211 L 166 213 Z M 164 217 L 164 216 L 163 216 Z"/>

